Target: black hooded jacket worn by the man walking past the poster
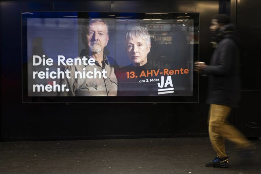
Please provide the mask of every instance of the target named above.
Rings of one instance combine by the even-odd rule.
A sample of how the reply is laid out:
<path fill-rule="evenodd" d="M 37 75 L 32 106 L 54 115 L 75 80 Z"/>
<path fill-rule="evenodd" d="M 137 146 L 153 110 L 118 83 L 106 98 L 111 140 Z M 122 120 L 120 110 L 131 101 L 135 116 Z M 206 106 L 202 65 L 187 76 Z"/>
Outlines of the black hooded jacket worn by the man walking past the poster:
<path fill-rule="evenodd" d="M 219 31 L 210 65 L 202 70 L 209 75 L 209 91 L 206 103 L 238 107 L 241 91 L 239 39 L 235 26 L 227 24 Z"/>

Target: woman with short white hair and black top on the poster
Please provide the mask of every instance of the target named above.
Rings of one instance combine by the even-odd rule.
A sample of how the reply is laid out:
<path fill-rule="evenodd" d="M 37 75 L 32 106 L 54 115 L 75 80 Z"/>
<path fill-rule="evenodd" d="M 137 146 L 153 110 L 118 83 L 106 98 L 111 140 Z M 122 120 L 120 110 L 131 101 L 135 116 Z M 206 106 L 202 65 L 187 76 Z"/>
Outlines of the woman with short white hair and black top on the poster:
<path fill-rule="evenodd" d="M 148 53 L 151 50 L 151 38 L 148 30 L 135 26 L 125 36 L 126 53 L 131 64 L 117 71 L 119 89 L 117 96 L 155 96 L 157 83 L 146 77 L 152 70 Z"/>

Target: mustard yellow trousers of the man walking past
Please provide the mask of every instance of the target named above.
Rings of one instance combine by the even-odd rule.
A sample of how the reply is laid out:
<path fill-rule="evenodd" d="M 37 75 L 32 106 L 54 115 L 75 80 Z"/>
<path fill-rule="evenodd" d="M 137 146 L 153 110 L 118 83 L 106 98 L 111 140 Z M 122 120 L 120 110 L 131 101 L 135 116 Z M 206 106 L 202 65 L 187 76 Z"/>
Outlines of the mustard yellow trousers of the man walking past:
<path fill-rule="evenodd" d="M 250 141 L 238 131 L 235 126 L 228 123 L 231 107 L 210 104 L 209 108 L 209 138 L 218 156 L 227 157 L 224 140 L 228 139 L 238 145 L 238 148 L 247 148 Z"/>

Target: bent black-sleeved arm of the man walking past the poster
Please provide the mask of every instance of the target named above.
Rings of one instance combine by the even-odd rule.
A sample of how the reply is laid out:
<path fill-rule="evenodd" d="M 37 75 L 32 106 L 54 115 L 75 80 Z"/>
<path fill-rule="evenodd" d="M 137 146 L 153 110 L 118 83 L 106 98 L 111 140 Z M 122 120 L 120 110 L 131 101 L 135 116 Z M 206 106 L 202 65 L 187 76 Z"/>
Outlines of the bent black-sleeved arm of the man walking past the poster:
<path fill-rule="evenodd" d="M 227 75 L 231 71 L 233 62 L 233 44 L 230 41 L 225 42 L 220 49 L 218 65 L 208 65 L 202 69 L 202 74 Z"/>

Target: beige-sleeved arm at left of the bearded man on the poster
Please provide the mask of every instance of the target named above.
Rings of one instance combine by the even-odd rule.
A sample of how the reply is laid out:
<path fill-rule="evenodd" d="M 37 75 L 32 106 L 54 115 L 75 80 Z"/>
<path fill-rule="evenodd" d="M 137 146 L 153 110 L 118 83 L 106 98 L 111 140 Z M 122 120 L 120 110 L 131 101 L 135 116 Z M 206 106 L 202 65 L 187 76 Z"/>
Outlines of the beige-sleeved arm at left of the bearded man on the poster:
<path fill-rule="evenodd" d="M 70 73 L 70 79 L 66 77 L 66 70 L 69 70 Z M 57 92 L 57 96 L 75 96 L 75 68 L 74 66 L 64 66 L 61 71 L 64 72 L 64 78 L 62 78 L 62 75 L 60 75 L 60 86 L 66 85 L 66 88 L 64 92 Z M 67 92 L 66 89 L 69 89 Z"/>

